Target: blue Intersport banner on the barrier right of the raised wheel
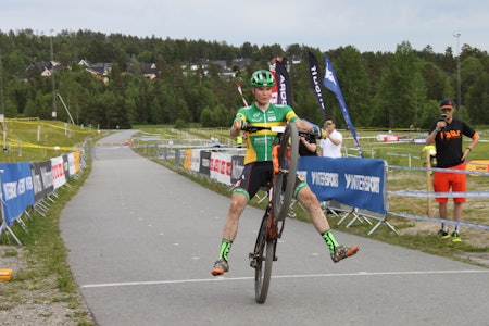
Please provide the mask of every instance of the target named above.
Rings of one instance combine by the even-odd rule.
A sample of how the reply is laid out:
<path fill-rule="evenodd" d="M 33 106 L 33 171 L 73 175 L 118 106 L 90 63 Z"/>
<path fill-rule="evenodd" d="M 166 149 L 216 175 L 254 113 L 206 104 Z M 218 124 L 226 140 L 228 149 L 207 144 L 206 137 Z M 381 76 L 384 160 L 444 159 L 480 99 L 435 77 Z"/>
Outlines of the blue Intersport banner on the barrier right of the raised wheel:
<path fill-rule="evenodd" d="M 336 200 L 352 208 L 387 213 L 384 160 L 300 156 L 298 174 L 319 201 Z"/>

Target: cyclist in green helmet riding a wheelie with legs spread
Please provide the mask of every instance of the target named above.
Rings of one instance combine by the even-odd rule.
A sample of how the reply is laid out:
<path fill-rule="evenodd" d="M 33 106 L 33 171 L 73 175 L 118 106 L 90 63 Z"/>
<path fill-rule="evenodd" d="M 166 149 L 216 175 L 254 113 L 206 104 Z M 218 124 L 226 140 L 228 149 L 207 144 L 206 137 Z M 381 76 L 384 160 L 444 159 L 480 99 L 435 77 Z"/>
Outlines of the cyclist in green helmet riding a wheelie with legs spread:
<path fill-rule="evenodd" d="M 251 91 L 254 96 L 254 103 L 250 106 L 241 108 L 236 114 L 236 118 L 230 128 L 230 136 L 240 135 L 248 124 L 253 126 L 272 127 L 286 126 L 287 122 L 294 123 L 300 130 L 311 130 L 321 138 L 323 131 L 319 127 L 312 127 L 309 123 L 300 120 L 292 108 L 288 105 L 272 104 L 272 87 L 275 85 L 274 76 L 269 71 L 256 71 L 251 76 Z M 244 168 L 240 179 L 234 187 L 229 210 L 224 223 L 223 238 L 218 260 L 212 267 L 212 275 L 222 275 L 229 271 L 228 253 L 233 241 L 238 233 L 238 221 L 248 201 L 254 197 L 260 187 L 273 177 L 272 147 L 277 134 L 265 129 L 247 135 L 244 155 Z M 319 202 L 302 179 L 296 180 L 293 196 L 306 209 L 311 221 L 321 234 L 329 248 L 331 260 L 337 263 L 342 259 L 355 254 L 359 246 L 351 248 L 338 244 L 333 235 L 329 223 L 321 209 Z"/>

